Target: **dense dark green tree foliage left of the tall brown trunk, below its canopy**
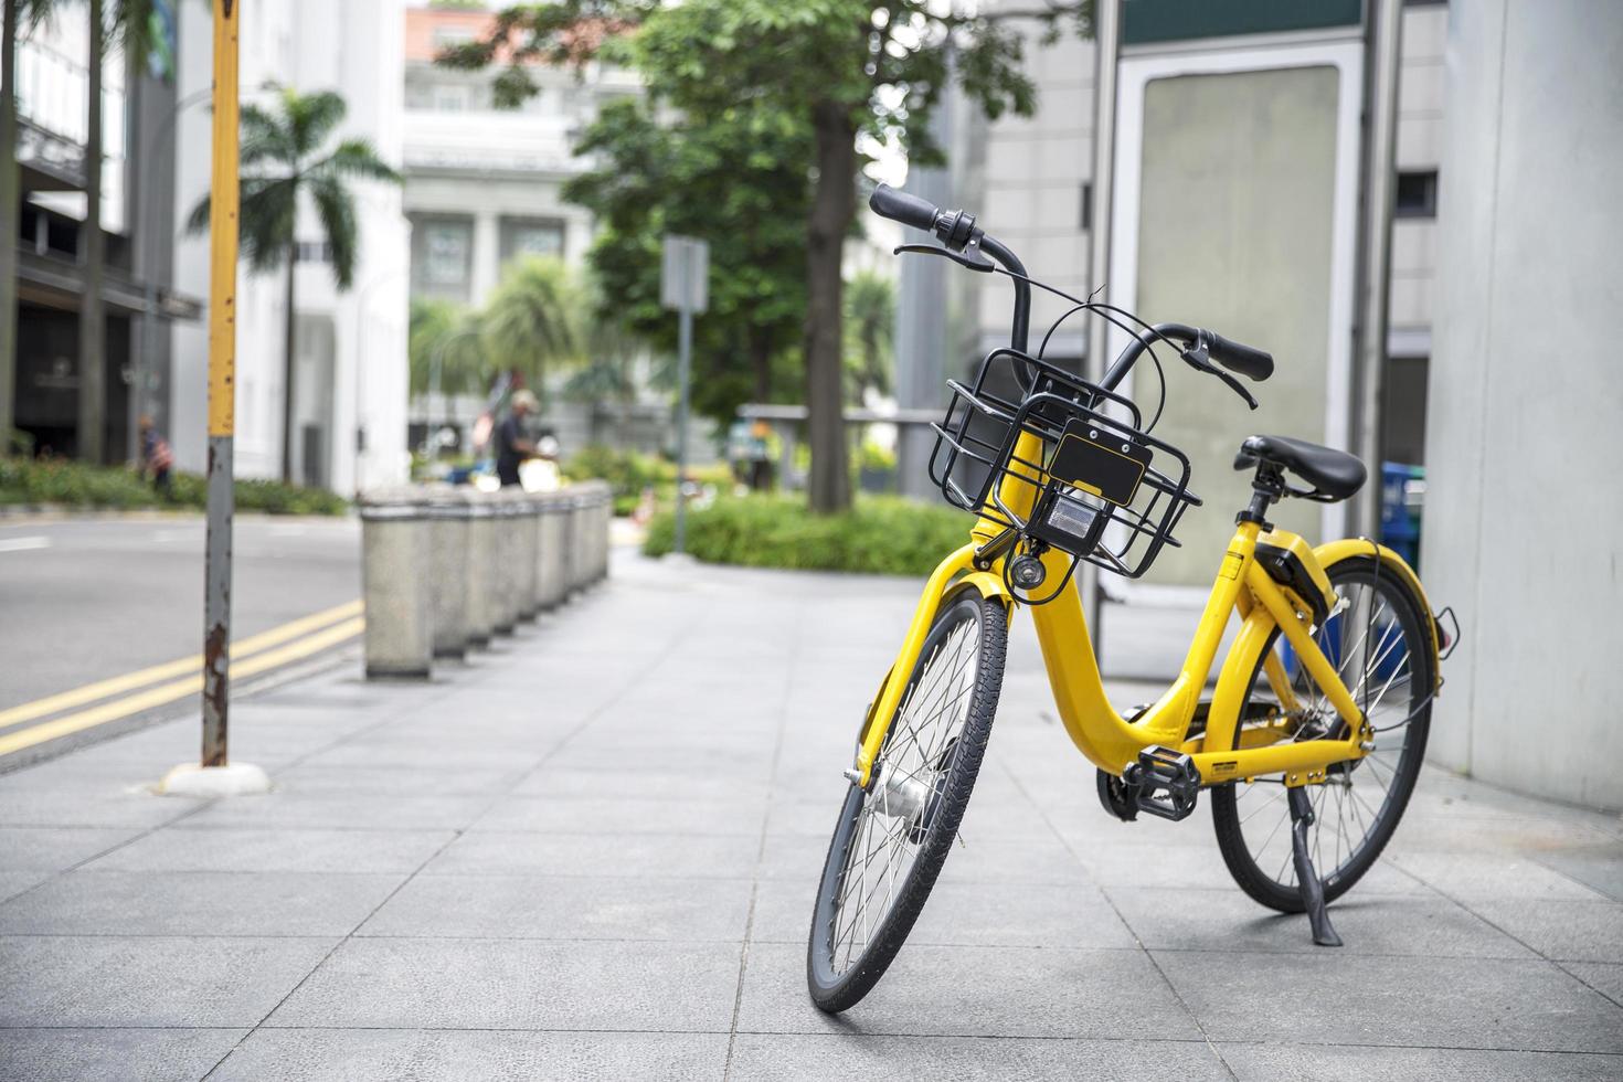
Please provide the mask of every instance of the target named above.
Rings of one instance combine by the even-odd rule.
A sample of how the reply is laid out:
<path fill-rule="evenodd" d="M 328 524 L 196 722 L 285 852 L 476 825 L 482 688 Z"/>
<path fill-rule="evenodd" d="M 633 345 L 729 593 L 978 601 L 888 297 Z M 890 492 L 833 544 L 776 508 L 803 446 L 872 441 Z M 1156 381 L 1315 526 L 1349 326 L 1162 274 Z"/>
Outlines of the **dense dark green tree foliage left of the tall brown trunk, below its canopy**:
<path fill-rule="evenodd" d="M 674 350 L 677 321 L 659 303 L 661 240 L 709 242 L 709 310 L 695 323 L 693 407 L 729 423 L 740 404 L 774 396 L 805 321 L 800 229 L 810 200 L 810 130 L 797 114 L 732 105 L 662 123 L 651 105 L 607 105 L 576 152 L 596 167 L 563 188 L 592 211 L 591 264 L 601 320 L 623 321 Z"/>

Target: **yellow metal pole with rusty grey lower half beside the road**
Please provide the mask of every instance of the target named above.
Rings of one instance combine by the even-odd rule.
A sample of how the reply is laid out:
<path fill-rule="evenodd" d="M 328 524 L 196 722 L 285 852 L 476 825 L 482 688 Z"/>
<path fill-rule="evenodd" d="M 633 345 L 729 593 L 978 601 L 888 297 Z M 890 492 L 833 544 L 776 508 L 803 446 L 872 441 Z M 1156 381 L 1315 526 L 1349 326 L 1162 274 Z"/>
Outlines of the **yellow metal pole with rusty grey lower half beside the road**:
<path fill-rule="evenodd" d="M 232 436 L 237 430 L 237 15 L 214 3 L 214 172 L 209 185 L 208 547 L 203 590 L 203 758 L 226 766 L 230 647 Z"/>

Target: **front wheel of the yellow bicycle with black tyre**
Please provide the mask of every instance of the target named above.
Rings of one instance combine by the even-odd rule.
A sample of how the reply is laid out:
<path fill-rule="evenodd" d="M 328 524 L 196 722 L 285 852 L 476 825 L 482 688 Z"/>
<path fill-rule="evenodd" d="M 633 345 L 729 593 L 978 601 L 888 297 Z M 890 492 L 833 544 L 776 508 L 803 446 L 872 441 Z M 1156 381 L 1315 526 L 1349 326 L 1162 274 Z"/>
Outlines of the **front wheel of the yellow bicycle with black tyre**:
<path fill-rule="evenodd" d="M 972 646 L 971 633 L 977 636 Z M 823 1011 L 846 1011 L 867 996 L 919 920 L 980 772 L 1003 686 L 1006 646 L 1008 615 L 1000 603 L 984 600 L 974 589 L 949 597 L 919 650 L 872 784 L 867 790 L 855 784 L 847 790 L 818 881 L 807 944 L 807 988 Z M 958 654 L 961 665 L 953 660 Z M 972 672 L 966 668 L 971 659 Z M 959 667 L 948 672 L 948 665 Z M 927 728 L 932 722 L 935 727 Z M 911 790 L 922 795 L 915 813 L 891 811 L 896 790 L 883 785 L 888 769 L 899 771 L 893 777 L 904 785 L 917 787 Z M 881 821 L 888 826 L 876 839 L 875 826 Z M 875 844 L 885 848 L 873 850 Z M 880 852 L 885 869 L 870 889 L 867 876 Z M 885 899 L 875 910 L 870 907 L 880 886 Z"/>

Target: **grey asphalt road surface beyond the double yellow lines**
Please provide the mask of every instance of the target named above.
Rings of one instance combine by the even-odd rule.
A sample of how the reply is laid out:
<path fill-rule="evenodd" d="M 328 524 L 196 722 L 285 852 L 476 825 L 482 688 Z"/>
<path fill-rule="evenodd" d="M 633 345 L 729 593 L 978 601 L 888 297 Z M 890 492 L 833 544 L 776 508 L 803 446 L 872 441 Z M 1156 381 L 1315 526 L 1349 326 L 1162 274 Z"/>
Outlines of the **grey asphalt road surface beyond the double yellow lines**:
<path fill-rule="evenodd" d="M 357 597 L 357 521 L 237 519 L 234 639 Z M 0 711 L 201 649 L 201 516 L 0 519 Z"/>

